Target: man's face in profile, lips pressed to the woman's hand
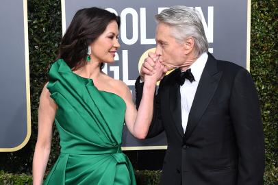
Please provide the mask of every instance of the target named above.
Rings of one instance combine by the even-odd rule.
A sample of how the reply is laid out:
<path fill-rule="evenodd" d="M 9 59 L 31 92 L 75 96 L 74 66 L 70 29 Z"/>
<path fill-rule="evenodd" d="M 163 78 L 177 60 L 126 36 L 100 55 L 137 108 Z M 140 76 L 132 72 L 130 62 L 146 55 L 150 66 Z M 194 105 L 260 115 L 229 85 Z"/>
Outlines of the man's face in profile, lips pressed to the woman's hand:
<path fill-rule="evenodd" d="M 184 45 L 177 42 L 173 37 L 173 32 L 169 25 L 165 23 L 158 23 L 156 28 L 155 40 L 156 49 L 155 54 L 160 56 L 160 62 L 168 63 L 173 66 L 179 66 L 186 61 L 184 54 Z"/>

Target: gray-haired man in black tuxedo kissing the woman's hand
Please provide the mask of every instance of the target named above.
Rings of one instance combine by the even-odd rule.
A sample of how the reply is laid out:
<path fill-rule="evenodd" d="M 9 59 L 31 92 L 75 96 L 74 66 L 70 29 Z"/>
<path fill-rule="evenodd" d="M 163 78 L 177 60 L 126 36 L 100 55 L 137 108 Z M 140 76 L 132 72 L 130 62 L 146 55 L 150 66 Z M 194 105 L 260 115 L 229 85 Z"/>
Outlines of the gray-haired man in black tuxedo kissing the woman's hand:
<path fill-rule="evenodd" d="M 263 184 L 264 135 L 255 85 L 246 69 L 208 53 L 199 17 L 185 6 L 157 14 L 156 50 L 136 80 L 138 106 L 144 75 L 161 64 L 176 68 L 160 82 L 147 135 L 166 132 L 160 184 Z"/>

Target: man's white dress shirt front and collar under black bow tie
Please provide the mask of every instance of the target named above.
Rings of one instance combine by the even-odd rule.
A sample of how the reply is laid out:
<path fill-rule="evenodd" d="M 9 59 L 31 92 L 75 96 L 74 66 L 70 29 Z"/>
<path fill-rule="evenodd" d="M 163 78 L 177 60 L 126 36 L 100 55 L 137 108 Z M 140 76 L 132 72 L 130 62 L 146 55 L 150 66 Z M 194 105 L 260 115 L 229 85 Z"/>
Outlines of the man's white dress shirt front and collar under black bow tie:
<path fill-rule="evenodd" d="M 195 93 L 207 63 L 207 53 L 201 54 L 201 56 L 189 67 L 191 73 L 194 76 L 195 81 L 190 83 L 188 79 L 184 82 L 184 85 L 180 88 L 181 93 L 181 122 L 184 132 L 186 132 L 186 126 L 188 123 L 188 115 L 192 106 Z"/>

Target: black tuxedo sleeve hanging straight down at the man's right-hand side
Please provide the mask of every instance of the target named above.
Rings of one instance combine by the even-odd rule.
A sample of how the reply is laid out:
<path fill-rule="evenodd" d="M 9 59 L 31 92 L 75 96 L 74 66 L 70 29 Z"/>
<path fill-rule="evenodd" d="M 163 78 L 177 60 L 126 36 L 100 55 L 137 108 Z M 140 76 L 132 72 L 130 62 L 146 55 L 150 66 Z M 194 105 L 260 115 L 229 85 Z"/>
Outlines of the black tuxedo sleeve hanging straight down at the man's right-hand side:
<path fill-rule="evenodd" d="M 246 69 L 240 69 L 234 79 L 230 114 L 238 145 L 238 185 L 263 184 L 265 159 L 260 103 Z"/>

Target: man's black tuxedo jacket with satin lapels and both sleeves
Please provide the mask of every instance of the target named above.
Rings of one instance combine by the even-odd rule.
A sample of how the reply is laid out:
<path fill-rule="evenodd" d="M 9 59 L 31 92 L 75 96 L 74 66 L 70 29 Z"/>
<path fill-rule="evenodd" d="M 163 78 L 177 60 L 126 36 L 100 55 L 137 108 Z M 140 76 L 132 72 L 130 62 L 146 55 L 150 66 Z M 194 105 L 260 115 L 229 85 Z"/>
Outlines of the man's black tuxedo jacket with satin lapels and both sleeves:
<path fill-rule="evenodd" d="M 147 136 L 166 132 L 168 149 L 160 184 L 261 185 L 264 134 L 251 75 L 241 66 L 208 54 L 185 134 L 177 70 L 160 82 Z M 138 78 L 137 107 L 142 88 Z"/>

